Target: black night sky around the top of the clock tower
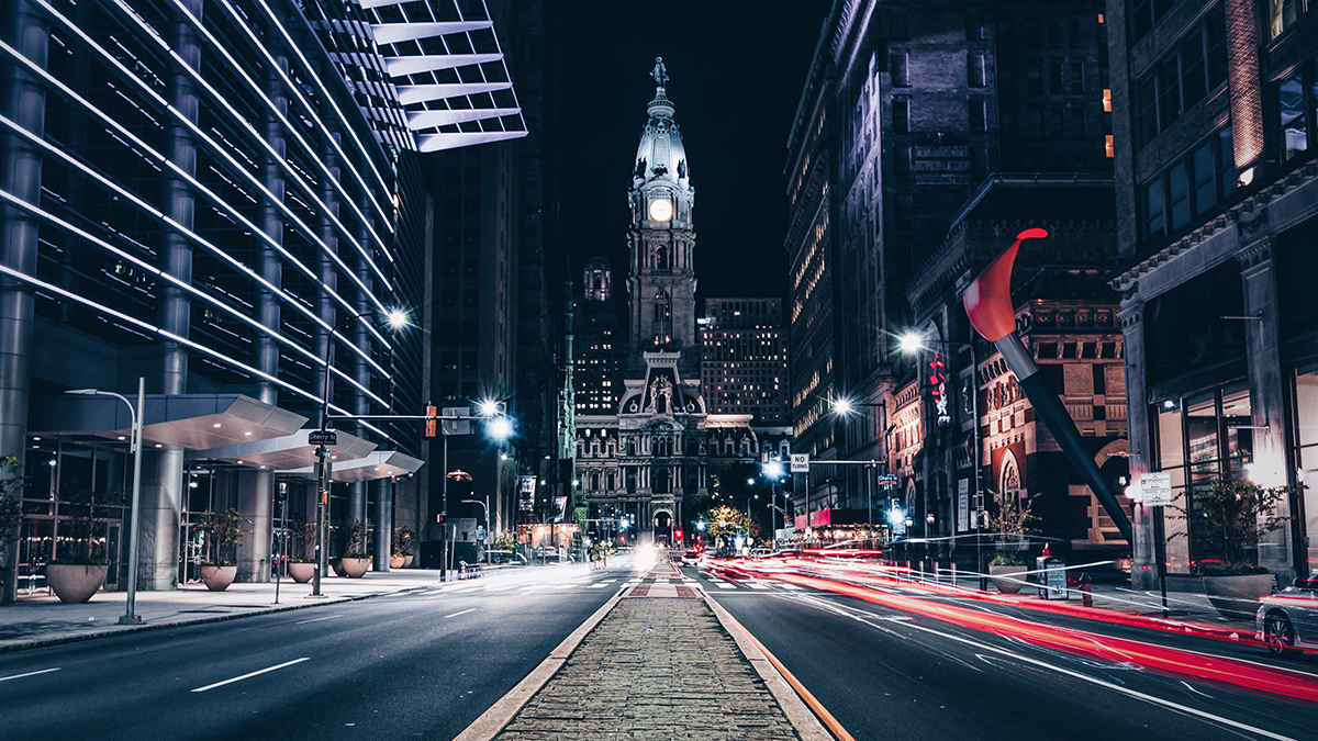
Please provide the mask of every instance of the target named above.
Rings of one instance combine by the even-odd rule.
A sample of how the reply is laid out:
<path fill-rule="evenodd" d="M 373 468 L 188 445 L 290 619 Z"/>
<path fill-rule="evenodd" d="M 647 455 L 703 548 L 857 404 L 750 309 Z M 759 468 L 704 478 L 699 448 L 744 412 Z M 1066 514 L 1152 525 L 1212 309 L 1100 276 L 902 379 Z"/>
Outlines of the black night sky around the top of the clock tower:
<path fill-rule="evenodd" d="M 560 239 L 626 278 L 630 171 L 663 57 L 696 187 L 701 297 L 783 295 L 787 136 L 828 0 L 563 0 Z"/>

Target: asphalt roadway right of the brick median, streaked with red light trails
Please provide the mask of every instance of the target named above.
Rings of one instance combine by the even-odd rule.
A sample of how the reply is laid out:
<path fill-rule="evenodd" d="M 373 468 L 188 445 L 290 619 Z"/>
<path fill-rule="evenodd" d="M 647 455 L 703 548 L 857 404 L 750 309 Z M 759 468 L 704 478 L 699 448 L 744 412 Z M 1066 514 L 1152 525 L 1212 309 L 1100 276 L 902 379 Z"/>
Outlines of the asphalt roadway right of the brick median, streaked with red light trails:
<path fill-rule="evenodd" d="M 1045 649 L 832 592 L 700 580 L 858 740 L 1318 738 L 1315 703 Z M 1000 612 L 970 603 L 958 607 Z M 1288 663 L 1218 641 L 1021 617 L 1265 667 L 1314 668 L 1311 659 Z"/>

